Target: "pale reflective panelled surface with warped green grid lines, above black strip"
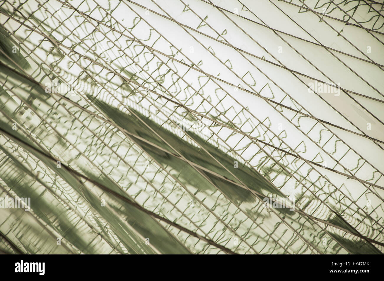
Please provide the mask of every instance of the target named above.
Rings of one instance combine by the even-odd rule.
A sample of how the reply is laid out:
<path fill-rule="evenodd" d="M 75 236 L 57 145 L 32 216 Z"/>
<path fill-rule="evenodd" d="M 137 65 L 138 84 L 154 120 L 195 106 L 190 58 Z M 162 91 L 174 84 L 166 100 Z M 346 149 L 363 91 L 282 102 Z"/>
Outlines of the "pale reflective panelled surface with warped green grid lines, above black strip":
<path fill-rule="evenodd" d="M 383 5 L 4 1 L 0 250 L 383 253 Z"/>

